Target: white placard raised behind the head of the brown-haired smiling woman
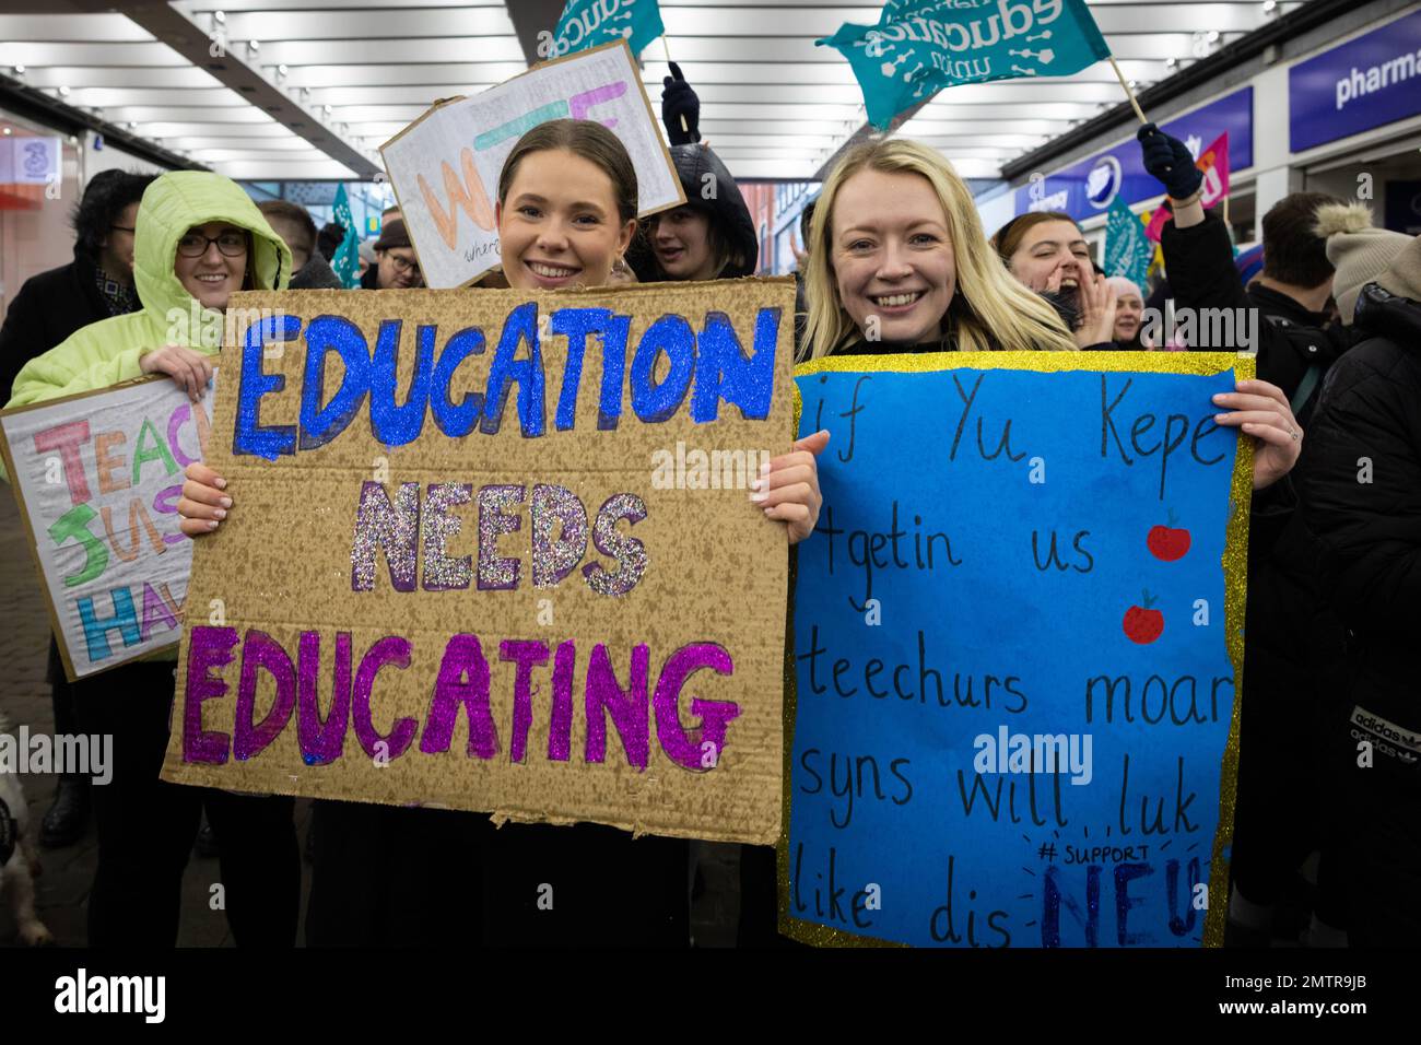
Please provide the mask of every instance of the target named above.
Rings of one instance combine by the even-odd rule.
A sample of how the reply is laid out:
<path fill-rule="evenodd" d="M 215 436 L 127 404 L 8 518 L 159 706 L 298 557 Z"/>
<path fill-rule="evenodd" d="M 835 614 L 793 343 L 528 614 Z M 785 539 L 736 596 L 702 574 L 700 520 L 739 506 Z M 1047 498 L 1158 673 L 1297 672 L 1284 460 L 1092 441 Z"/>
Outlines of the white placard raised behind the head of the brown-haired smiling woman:
<path fill-rule="evenodd" d="M 597 119 L 627 146 L 642 218 L 686 202 L 625 41 L 543 63 L 433 105 L 381 146 L 425 283 L 466 286 L 499 263 L 503 161 L 527 131 L 567 118 Z"/>

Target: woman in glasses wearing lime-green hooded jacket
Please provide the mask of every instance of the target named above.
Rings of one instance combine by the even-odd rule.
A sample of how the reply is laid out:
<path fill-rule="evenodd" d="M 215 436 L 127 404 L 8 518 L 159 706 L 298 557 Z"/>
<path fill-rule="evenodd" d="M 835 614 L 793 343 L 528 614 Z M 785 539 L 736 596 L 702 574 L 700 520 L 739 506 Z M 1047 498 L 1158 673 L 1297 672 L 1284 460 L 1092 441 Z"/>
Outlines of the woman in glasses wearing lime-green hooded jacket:
<path fill-rule="evenodd" d="M 175 171 L 138 209 L 134 283 L 141 309 L 92 323 L 31 360 L 11 407 L 166 374 L 195 401 L 222 347 L 236 290 L 281 290 L 291 252 L 226 178 Z M 182 482 L 175 475 L 176 482 Z M 242 945 L 296 941 L 301 866 L 288 798 L 232 795 L 158 779 L 168 746 L 175 654 L 102 675 L 77 698 L 80 729 L 114 738 L 114 772 L 94 789 L 98 870 L 90 945 L 172 947 L 183 867 L 203 806 L 220 842 L 227 921 Z"/>

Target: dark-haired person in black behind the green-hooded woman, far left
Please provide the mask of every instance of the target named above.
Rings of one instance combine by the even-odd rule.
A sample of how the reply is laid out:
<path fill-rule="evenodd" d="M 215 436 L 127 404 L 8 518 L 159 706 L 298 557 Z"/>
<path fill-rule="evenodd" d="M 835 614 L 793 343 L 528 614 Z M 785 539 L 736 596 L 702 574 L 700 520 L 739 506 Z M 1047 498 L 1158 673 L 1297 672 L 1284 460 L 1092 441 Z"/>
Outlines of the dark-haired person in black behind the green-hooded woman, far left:
<path fill-rule="evenodd" d="M 134 290 L 134 230 L 138 205 L 153 178 L 156 175 L 111 169 L 90 179 L 72 218 L 74 260 L 31 276 L 6 310 L 0 327 L 0 401 L 10 398 L 16 375 L 30 360 L 80 327 L 142 307 Z M 77 734 L 74 694 L 82 684 L 65 677 L 53 637 L 48 681 L 54 732 Z M 84 833 L 88 813 L 90 778 L 65 773 L 40 822 L 40 845 L 45 849 L 72 845 Z"/>

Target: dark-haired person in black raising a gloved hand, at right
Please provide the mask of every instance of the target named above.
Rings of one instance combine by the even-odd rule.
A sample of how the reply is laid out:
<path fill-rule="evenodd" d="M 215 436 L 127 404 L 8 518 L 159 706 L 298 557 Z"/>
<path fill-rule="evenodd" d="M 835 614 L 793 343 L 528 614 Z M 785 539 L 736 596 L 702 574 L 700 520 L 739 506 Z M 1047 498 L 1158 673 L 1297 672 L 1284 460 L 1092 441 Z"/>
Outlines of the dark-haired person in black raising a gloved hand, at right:
<path fill-rule="evenodd" d="M 1154 124 L 1138 138 L 1145 171 L 1165 188 L 1174 212 L 1161 245 L 1177 311 L 1225 310 L 1235 331 L 1256 330 L 1255 345 L 1235 338 L 1191 347 L 1255 347 L 1258 375 L 1289 398 L 1300 441 L 1329 367 L 1350 343 L 1347 331 L 1329 321 L 1334 270 L 1316 229 L 1319 210 L 1341 200 L 1296 192 L 1273 205 L 1263 215 L 1263 273 L 1245 290 L 1228 227 L 1199 202 L 1204 175 L 1189 149 Z M 1330 849 L 1320 812 L 1326 789 L 1314 758 L 1316 717 L 1341 661 L 1341 636 L 1317 610 L 1316 553 L 1290 525 L 1296 503 L 1293 481 L 1280 482 L 1253 498 L 1249 526 L 1228 933 L 1228 944 L 1239 947 L 1268 945 L 1275 923 L 1276 931 L 1296 936 L 1309 924 L 1302 910 L 1307 906 L 1312 943 L 1336 943 L 1344 931 L 1336 857 L 1324 852 L 1316 900 L 1300 873 L 1309 853 Z"/>

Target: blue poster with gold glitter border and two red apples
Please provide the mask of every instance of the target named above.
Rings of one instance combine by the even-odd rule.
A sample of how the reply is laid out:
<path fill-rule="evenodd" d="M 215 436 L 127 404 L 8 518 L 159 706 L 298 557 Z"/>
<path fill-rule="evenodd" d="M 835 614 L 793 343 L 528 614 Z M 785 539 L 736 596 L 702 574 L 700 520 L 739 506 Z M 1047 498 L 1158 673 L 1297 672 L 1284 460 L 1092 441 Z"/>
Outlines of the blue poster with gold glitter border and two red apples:
<path fill-rule="evenodd" d="M 782 931 L 1191 947 L 1228 907 L 1252 449 L 1206 353 L 824 358 Z M 791 718 L 793 717 L 793 718 Z"/>

